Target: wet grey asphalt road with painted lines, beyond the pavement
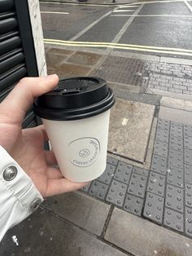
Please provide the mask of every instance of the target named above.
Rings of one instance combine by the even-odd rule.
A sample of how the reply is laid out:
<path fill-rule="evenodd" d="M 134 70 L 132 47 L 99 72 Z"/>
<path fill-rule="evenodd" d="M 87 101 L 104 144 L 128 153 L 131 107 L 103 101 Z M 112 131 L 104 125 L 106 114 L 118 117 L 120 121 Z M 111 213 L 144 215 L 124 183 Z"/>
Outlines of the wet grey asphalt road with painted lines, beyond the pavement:
<path fill-rule="evenodd" d="M 41 19 L 44 38 L 63 45 L 192 59 L 191 1 L 118 7 L 41 2 Z"/>

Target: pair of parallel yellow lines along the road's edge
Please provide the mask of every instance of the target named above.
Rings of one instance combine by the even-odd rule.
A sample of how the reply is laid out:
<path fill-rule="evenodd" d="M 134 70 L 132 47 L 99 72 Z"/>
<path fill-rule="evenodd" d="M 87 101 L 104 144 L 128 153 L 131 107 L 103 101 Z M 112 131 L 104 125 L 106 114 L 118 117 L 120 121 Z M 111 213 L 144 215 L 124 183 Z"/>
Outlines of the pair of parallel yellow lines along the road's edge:
<path fill-rule="evenodd" d="M 171 47 L 158 47 L 158 46 L 139 46 L 133 44 L 116 43 L 116 42 L 74 42 L 63 41 L 57 39 L 44 39 L 46 44 L 52 44 L 57 46 L 78 46 L 78 47 L 101 47 L 101 48 L 113 48 L 131 51 L 147 51 L 155 53 L 167 53 L 170 55 L 186 55 L 192 56 L 192 50 L 171 48 Z"/>

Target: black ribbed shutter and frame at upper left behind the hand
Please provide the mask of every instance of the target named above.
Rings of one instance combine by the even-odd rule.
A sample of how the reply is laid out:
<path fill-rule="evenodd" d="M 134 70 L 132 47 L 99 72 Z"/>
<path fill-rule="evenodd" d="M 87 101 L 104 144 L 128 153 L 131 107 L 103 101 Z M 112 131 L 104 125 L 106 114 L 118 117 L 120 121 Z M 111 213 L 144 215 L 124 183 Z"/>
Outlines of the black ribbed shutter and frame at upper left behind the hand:
<path fill-rule="evenodd" d="M 0 0 L 0 102 L 22 77 L 37 77 L 27 0 Z M 33 108 L 23 127 L 37 126 Z"/>

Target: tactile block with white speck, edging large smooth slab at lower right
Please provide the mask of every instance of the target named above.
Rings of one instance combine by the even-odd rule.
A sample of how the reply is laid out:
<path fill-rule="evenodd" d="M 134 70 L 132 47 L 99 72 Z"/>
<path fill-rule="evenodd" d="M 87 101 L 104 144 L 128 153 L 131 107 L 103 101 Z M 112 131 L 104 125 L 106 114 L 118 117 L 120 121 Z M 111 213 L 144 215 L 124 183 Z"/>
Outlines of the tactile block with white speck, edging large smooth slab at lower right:
<path fill-rule="evenodd" d="M 155 223 L 163 223 L 164 197 L 146 192 L 146 203 L 143 216 L 150 218 Z"/>

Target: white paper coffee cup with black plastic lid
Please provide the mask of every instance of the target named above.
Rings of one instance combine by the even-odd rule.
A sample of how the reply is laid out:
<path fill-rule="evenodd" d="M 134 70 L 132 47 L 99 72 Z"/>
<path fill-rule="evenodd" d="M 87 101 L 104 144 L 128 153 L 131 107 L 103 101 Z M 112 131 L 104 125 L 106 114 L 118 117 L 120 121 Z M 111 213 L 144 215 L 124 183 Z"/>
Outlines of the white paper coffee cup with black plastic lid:
<path fill-rule="evenodd" d="M 106 168 L 112 90 L 97 77 L 63 79 L 38 97 L 34 111 L 42 118 L 66 179 L 87 182 Z"/>

